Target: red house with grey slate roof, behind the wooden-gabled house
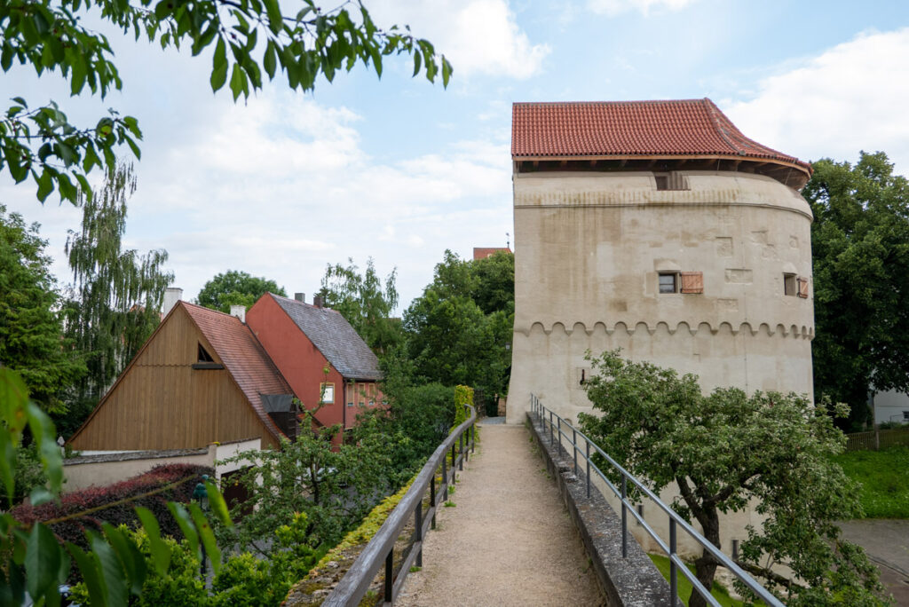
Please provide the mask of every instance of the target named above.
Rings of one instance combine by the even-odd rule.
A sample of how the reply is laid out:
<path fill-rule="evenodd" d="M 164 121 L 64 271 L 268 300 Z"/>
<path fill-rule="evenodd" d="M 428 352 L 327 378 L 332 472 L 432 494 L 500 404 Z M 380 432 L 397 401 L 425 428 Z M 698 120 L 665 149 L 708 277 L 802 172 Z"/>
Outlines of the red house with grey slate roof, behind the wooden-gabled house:
<path fill-rule="evenodd" d="M 382 402 L 379 361 L 341 313 L 303 299 L 265 294 L 246 323 L 316 421 L 351 428 L 356 413 Z"/>

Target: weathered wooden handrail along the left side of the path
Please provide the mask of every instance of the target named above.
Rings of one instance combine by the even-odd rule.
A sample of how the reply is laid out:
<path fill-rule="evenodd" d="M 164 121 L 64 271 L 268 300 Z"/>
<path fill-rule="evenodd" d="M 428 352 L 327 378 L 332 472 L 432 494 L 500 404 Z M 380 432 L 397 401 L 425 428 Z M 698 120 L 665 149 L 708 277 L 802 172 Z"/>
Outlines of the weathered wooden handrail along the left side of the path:
<path fill-rule="evenodd" d="M 418 567 L 423 566 L 423 538 L 429 529 L 435 529 L 435 512 L 439 503 L 438 492 L 435 487 L 435 473 L 442 467 L 442 481 L 438 487 L 443 494 L 443 500 L 448 499 L 448 452 L 451 450 L 451 483 L 456 482 L 458 470 L 464 470 L 464 460 L 468 452 L 473 452 L 476 447 L 476 410 L 471 405 L 467 407 L 470 417 L 448 434 L 445 441 L 436 447 L 435 452 L 429 456 L 423 469 L 417 474 L 414 483 L 407 490 L 395 510 L 375 532 L 373 539 L 366 544 L 363 552 L 356 558 L 354 564 L 337 583 L 335 589 L 325 598 L 322 604 L 325 607 L 346 607 L 357 605 L 363 600 L 370 584 L 375 580 L 376 574 L 385 564 L 385 602 L 393 604 L 400 592 L 411 565 L 415 562 Z M 457 443 L 457 444 L 455 444 Z M 429 490 L 429 508 L 424 512 L 423 498 Z M 395 542 L 404 530 L 410 516 L 415 517 L 415 529 L 405 561 L 395 576 Z"/>

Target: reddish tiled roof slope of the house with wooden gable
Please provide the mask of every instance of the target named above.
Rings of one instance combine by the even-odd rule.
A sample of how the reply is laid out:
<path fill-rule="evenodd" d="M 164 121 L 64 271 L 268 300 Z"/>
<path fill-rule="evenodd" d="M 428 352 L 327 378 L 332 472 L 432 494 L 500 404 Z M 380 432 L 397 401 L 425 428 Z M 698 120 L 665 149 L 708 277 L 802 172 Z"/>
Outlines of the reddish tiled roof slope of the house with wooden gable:
<path fill-rule="evenodd" d="M 268 415 L 264 394 L 293 394 L 290 385 L 265 353 L 262 344 L 240 319 L 230 314 L 209 310 L 193 303 L 180 302 L 225 369 L 234 377 L 240 390 L 253 405 L 253 410 L 275 438 L 283 436 Z"/>

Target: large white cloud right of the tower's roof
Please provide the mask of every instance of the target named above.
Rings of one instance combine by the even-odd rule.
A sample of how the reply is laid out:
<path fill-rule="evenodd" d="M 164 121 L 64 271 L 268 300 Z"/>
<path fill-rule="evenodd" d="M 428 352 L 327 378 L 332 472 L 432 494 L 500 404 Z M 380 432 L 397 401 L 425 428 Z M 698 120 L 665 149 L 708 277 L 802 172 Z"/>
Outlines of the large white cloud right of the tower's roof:
<path fill-rule="evenodd" d="M 864 33 L 724 104 L 744 134 L 804 160 L 882 150 L 909 171 L 909 28 Z"/>

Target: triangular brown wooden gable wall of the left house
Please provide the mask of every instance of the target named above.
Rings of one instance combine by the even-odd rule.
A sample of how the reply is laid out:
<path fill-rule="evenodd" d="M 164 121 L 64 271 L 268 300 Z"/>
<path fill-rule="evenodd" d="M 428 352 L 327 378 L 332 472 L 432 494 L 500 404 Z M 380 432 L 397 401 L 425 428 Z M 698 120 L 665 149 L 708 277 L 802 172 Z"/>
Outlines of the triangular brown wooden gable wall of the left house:
<path fill-rule="evenodd" d="M 192 368 L 199 343 L 221 363 L 189 314 L 177 308 L 70 439 L 72 447 L 191 449 L 249 437 L 277 446 L 230 373 Z"/>

